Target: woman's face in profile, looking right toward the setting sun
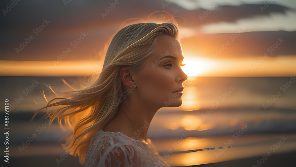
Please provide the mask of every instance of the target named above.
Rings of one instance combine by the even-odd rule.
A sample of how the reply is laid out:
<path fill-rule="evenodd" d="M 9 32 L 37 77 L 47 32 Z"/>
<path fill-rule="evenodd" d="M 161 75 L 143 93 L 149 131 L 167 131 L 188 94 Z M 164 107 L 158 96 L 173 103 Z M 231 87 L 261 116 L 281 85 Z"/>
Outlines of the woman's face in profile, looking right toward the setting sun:
<path fill-rule="evenodd" d="M 159 61 L 158 61 L 159 60 Z M 177 107 L 182 104 L 179 91 L 187 75 L 181 69 L 182 48 L 177 39 L 162 35 L 155 52 L 136 74 L 137 92 L 148 104 L 158 107 Z"/>

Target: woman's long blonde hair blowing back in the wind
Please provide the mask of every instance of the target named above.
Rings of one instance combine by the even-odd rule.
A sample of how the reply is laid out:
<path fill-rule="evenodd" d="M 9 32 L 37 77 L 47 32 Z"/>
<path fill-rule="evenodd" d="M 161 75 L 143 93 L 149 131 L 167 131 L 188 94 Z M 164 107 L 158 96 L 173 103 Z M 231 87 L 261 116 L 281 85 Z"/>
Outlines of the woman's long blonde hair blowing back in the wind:
<path fill-rule="evenodd" d="M 178 29 L 173 23 L 137 23 L 120 29 L 110 42 L 99 77 L 79 92 L 64 92 L 68 95 L 65 98 L 52 99 L 33 118 L 45 108 L 47 113 L 43 118 L 50 117 L 49 125 L 57 118 L 62 129 L 70 128 L 73 132 L 64 137 L 66 143 L 62 145 L 70 155 L 77 154 L 79 162 L 84 164 L 91 139 L 118 112 L 120 105 L 114 102 L 122 100 L 124 91 L 120 69 L 140 70 L 145 59 L 156 50 L 161 35 L 177 38 Z M 53 102 L 56 100 L 59 101 Z M 48 107 L 57 109 L 48 112 Z"/>

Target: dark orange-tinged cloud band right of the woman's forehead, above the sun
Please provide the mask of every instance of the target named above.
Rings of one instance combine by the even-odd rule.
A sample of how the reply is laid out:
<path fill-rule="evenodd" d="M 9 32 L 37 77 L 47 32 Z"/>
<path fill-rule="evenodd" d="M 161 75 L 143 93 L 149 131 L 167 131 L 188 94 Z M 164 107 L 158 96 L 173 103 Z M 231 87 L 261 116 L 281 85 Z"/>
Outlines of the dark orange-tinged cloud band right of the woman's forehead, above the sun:
<path fill-rule="evenodd" d="M 265 53 L 272 57 L 296 55 L 295 36 L 296 31 L 200 34 L 184 39 L 182 49 L 194 50 L 197 55 L 210 58 L 213 58 L 213 54 L 217 55 L 217 50 L 222 51 L 221 55 L 218 55 L 219 58 L 258 57 Z M 278 40 L 280 42 L 277 42 Z M 279 45 L 276 45 L 276 42 Z"/>

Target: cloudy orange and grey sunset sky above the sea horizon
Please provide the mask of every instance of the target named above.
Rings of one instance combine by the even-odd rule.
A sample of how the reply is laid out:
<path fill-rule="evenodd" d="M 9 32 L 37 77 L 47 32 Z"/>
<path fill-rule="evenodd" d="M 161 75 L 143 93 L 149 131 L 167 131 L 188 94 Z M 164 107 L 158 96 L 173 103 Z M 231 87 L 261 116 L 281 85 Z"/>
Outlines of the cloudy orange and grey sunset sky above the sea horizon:
<path fill-rule="evenodd" d="M 9 2 L 1 4 L 5 7 Z M 169 22 L 168 14 L 178 23 L 186 63 L 182 69 L 188 76 L 296 73 L 294 1 L 130 0 L 119 1 L 102 16 L 112 2 L 18 2 L 1 16 L 0 75 L 93 75 L 102 70 L 104 48 L 119 28 L 140 19 Z M 130 22 L 121 25 L 125 20 Z M 20 43 L 26 41 L 30 42 L 22 48 Z"/>

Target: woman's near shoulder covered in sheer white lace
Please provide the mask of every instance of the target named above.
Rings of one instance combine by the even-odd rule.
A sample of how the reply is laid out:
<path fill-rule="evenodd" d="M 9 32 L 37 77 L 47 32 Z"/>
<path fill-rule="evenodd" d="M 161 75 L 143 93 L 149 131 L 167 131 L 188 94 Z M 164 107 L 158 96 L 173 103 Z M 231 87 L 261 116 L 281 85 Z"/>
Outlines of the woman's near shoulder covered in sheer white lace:
<path fill-rule="evenodd" d="M 104 132 L 100 130 L 91 140 L 86 163 L 98 166 L 126 166 L 137 162 L 141 157 L 141 143 L 120 132 Z"/>

